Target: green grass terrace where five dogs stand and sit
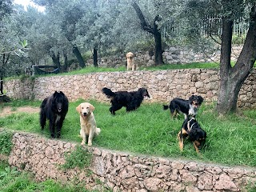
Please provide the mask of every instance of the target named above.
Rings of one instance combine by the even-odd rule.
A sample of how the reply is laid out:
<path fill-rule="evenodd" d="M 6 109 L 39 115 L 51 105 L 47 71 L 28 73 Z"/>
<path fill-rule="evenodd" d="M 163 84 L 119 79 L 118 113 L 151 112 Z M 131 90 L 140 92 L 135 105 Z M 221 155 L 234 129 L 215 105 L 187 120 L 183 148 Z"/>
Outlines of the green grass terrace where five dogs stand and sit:
<path fill-rule="evenodd" d="M 62 127 L 62 139 L 66 141 L 81 142 L 78 137 L 79 115 L 75 110 L 80 102 L 84 101 L 70 102 Z M 180 152 L 177 134 L 183 117 L 170 119 L 170 111 L 162 110 L 162 103 L 143 103 L 138 110 L 130 113 L 122 108 L 113 116 L 109 112 L 110 104 L 89 102 L 95 106 L 97 126 L 102 129 L 101 134 L 94 138 L 94 146 L 166 158 L 256 166 L 256 110 L 242 110 L 239 114 L 220 118 L 214 111 L 214 105 L 202 105 L 198 122 L 206 130 L 207 138 L 202 155 L 198 155 L 188 141 L 185 142 L 184 151 Z M 16 102 L 13 104 L 16 105 Z M 33 104 L 39 105 L 40 102 Z M 11 114 L 0 118 L 0 127 L 38 133 L 50 138 L 47 128 L 41 130 L 38 114 Z"/>

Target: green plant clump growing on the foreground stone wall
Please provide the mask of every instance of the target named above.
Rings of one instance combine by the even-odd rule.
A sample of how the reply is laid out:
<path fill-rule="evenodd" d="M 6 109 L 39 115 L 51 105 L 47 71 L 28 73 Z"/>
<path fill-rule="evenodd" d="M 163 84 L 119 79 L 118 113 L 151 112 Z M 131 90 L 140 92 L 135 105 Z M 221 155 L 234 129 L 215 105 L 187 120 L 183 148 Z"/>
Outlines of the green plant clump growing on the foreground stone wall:
<path fill-rule="evenodd" d="M 61 166 L 62 169 L 88 168 L 92 160 L 92 154 L 83 146 L 75 146 L 75 150 L 65 154 L 66 162 Z"/>

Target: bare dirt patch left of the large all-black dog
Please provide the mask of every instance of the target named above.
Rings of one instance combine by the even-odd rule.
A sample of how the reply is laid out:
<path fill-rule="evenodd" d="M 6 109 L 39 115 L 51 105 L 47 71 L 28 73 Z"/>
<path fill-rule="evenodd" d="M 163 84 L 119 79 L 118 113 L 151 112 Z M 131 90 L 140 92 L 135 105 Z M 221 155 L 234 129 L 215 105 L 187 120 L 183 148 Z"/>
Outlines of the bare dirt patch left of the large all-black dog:
<path fill-rule="evenodd" d="M 8 116 L 10 114 L 18 113 L 18 112 L 26 112 L 26 113 L 39 113 L 39 107 L 31 107 L 31 106 L 22 106 L 17 107 L 15 110 L 12 110 L 10 106 L 5 106 L 0 109 L 0 117 Z"/>

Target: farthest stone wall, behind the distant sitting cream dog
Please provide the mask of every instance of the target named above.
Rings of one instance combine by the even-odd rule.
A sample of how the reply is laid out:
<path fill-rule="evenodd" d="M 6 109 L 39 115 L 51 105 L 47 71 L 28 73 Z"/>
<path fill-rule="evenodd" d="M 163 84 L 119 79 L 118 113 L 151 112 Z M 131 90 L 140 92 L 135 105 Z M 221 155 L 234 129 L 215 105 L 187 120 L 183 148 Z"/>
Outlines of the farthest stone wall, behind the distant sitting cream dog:
<path fill-rule="evenodd" d="M 242 46 L 234 46 L 231 51 L 231 61 L 236 61 L 242 50 Z M 186 47 L 170 46 L 162 53 L 162 59 L 165 63 L 180 64 L 191 62 L 219 62 L 220 48 L 216 48 L 213 52 L 196 53 L 194 50 L 189 50 Z M 139 69 L 146 66 L 154 66 L 154 55 L 150 51 L 141 51 L 134 53 L 134 62 Z M 93 59 L 86 61 L 86 65 L 93 65 Z M 98 66 L 119 67 L 126 66 L 126 55 L 112 55 L 109 57 L 98 58 Z M 73 67 L 71 67 L 73 68 Z"/>

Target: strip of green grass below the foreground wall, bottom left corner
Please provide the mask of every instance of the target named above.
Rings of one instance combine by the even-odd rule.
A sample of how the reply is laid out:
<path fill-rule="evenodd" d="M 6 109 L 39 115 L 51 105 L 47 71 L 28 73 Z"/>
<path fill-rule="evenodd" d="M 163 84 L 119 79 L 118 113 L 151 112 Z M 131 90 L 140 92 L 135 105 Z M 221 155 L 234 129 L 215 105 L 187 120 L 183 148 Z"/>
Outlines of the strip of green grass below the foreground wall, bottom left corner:
<path fill-rule="evenodd" d="M 1 192 L 99 192 L 110 190 L 86 190 L 85 183 L 74 184 L 73 182 L 56 182 L 46 180 L 35 182 L 33 174 L 19 172 L 10 167 L 7 162 L 0 162 L 0 191 Z"/>

